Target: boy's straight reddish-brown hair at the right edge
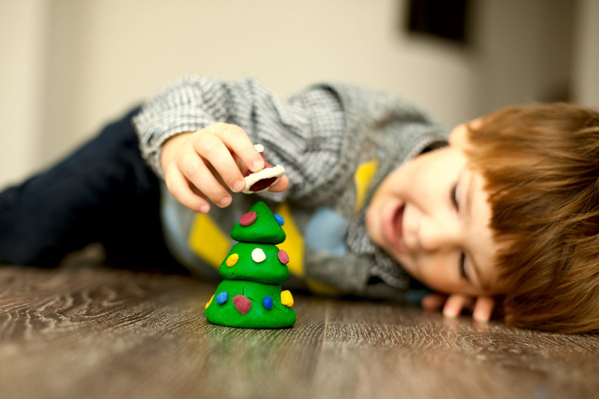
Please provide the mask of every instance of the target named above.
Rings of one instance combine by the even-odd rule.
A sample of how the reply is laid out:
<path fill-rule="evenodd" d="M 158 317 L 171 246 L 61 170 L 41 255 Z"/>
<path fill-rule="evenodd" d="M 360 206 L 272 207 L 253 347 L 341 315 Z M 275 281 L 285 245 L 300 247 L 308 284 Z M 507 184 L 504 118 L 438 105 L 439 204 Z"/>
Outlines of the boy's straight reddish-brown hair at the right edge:
<path fill-rule="evenodd" d="M 599 112 L 567 103 L 513 106 L 468 129 L 485 177 L 506 321 L 599 331 Z"/>

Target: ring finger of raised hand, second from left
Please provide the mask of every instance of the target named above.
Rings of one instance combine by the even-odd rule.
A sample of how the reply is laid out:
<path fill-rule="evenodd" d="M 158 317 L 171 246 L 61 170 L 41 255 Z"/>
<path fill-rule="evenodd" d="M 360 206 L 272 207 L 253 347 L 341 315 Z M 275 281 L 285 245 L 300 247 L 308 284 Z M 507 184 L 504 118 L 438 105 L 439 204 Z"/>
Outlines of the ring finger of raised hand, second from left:
<path fill-rule="evenodd" d="M 227 153 L 229 158 L 231 155 Z M 195 152 L 194 148 L 187 148 L 180 157 L 177 157 L 179 167 L 184 177 L 195 186 L 202 195 L 208 197 L 214 204 L 224 208 L 231 203 L 231 195 L 217 181 L 204 160 Z"/>

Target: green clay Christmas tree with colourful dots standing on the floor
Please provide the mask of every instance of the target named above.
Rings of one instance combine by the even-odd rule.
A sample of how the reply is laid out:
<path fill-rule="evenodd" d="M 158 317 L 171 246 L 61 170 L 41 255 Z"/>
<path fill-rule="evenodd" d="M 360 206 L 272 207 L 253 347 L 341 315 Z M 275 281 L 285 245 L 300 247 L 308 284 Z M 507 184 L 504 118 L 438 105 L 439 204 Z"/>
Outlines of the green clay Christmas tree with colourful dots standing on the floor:
<path fill-rule="evenodd" d="M 208 321 L 244 328 L 294 325 L 294 299 L 280 285 L 289 278 L 289 257 L 276 246 L 285 241 L 282 225 L 262 201 L 241 216 L 231 230 L 239 242 L 219 267 L 225 280 L 206 304 Z"/>

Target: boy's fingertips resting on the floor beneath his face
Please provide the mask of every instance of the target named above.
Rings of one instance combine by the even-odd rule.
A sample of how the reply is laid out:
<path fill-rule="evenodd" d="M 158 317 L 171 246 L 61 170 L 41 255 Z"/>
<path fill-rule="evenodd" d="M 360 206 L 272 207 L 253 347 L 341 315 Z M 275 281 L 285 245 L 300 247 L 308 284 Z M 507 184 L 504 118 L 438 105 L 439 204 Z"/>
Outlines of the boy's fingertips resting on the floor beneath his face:
<path fill-rule="evenodd" d="M 462 295 L 451 294 L 428 294 L 422 299 L 424 309 L 441 309 L 443 307 L 443 316 L 455 318 L 462 309 L 474 309 L 472 317 L 477 321 L 489 321 L 495 307 L 495 300 L 492 297 L 479 296 L 476 298 Z"/>

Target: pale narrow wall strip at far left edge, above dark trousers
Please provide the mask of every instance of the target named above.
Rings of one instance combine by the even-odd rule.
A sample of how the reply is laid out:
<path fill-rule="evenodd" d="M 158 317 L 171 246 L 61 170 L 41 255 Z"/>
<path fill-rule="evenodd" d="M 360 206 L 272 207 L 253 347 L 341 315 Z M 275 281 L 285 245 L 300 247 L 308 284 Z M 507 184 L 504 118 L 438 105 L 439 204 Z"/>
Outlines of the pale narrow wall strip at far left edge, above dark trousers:
<path fill-rule="evenodd" d="M 39 165 L 47 8 L 0 0 L 0 187 Z"/>

